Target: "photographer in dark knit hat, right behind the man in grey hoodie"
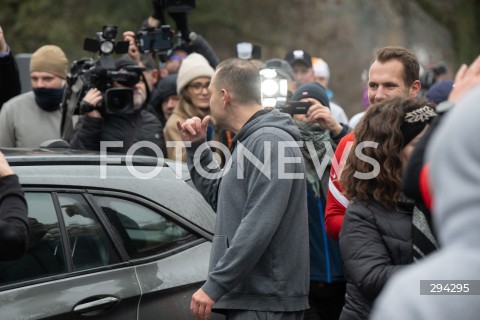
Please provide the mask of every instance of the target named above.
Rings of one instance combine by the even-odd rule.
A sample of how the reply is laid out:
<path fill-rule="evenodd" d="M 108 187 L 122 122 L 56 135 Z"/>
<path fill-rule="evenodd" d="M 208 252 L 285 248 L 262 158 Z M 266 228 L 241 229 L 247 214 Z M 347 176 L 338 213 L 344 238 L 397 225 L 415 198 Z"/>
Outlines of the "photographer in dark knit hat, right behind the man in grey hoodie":
<path fill-rule="evenodd" d="M 338 241 L 324 236 L 323 222 L 330 170 L 327 166 L 319 176 L 314 163 L 323 163 L 324 158 L 328 157 L 328 147 L 335 151 L 340 139 L 348 132 L 348 127 L 335 120 L 330 112 L 326 90 L 317 82 L 299 86 L 291 101 L 310 103 L 306 114 L 292 115 L 304 142 L 301 151 L 307 180 L 310 308 L 305 311 L 304 319 L 338 319 L 345 303 L 343 262 Z"/>

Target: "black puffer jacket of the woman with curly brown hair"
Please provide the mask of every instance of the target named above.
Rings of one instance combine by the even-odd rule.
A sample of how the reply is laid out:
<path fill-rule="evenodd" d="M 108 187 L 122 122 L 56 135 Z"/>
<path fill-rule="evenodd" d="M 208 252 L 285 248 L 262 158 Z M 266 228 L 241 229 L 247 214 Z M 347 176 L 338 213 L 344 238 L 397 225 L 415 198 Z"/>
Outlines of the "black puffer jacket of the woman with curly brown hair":
<path fill-rule="evenodd" d="M 413 261 L 413 205 L 386 209 L 378 203 L 351 203 L 340 232 L 340 250 L 347 280 L 341 320 L 368 319 L 392 273 Z"/>

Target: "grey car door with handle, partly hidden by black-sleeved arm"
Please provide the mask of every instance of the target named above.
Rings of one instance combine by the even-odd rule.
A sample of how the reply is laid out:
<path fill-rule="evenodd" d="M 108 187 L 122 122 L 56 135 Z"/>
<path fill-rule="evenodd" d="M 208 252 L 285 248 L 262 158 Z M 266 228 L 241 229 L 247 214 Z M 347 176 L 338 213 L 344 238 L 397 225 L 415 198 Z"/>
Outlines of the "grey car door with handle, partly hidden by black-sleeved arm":
<path fill-rule="evenodd" d="M 140 287 L 78 190 L 24 189 L 30 241 L 0 262 L 1 319 L 137 319 Z"/>

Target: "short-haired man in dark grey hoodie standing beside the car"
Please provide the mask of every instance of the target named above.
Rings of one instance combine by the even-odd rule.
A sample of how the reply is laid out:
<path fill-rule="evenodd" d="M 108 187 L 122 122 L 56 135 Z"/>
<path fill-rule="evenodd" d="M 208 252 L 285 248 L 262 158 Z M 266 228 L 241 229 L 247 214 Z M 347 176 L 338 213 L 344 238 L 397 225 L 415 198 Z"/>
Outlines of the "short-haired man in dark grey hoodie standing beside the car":
<path fill-rule="evenodd" d="M 308 308 L 300 133 L 290 116 L 262 108 L 259 88 L 258 68 L 242 59 L 220 63 L 211 80 L 212 116 L 236 134 L 223 171 L 202 147 L 210 117 L 177 123 L 191 142 L 192 180 L 217 212 L 209 275 L 192 296 L 195 319 L 210 319 L 212 308 L 229 320 L 303 319 Z"/>

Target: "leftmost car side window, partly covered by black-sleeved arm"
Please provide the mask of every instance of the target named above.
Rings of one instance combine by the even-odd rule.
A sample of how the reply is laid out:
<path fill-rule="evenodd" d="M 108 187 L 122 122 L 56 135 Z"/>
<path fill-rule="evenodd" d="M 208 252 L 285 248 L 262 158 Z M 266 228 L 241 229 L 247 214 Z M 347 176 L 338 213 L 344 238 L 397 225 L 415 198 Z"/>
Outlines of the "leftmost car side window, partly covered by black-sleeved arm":
<path fill-rule="evenodd" d="M 64 244 L 52 195 L 27 192 L 30 236 L 22 258 L 0 263 L 0 284 L 8 284 L 67 272 Z"/>

